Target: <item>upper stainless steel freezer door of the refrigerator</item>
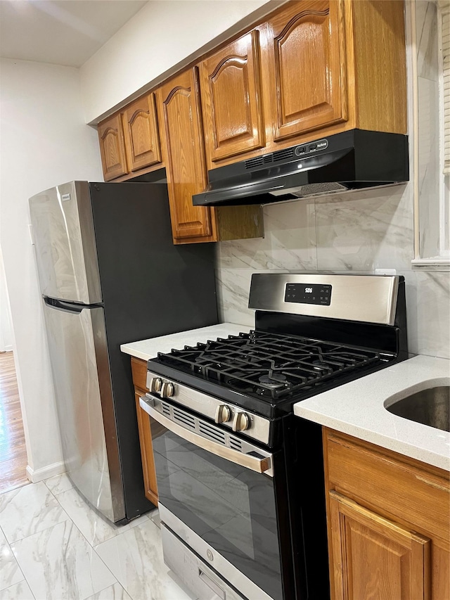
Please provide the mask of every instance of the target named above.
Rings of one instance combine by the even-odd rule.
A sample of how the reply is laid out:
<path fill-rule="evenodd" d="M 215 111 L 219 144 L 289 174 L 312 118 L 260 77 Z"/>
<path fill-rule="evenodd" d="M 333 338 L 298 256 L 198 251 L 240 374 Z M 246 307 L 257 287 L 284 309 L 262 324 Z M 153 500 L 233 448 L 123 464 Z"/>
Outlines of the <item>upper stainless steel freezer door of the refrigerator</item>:
<path fill-rule="evenodd" d="M 71 181 L 33 196 L 30 216 L 42 295 L 101 302 L 87 181 Z"/>

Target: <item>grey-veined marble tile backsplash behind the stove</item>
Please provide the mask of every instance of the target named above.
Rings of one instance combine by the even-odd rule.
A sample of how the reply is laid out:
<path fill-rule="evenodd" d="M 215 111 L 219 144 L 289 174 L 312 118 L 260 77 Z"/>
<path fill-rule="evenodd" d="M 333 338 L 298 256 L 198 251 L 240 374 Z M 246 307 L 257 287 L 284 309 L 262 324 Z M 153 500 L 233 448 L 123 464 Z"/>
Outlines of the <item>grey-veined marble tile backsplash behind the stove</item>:
<path fill-rule="evenodd" d="M 266 205 L 264 229 L 264 238 L 217 244 L 222 320 L 255 324 L 248 309 L 255 272 L 395 269 L 406 280 L 409 351 L 450 358 L 450 272 L 411 269 L 411 183 Z"/>

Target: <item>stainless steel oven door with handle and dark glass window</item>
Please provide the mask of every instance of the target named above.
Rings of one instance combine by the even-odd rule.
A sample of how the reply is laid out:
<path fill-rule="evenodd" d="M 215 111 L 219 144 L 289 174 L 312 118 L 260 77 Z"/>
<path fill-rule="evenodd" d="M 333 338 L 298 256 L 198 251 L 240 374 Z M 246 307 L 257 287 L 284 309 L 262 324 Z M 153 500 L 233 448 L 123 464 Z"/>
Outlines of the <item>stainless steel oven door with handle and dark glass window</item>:
<path fill-rule="evenodd" d="M 141 407 L 162 521 L 245 597 L 282 599 L 274 454 L 167 400 Z"/>

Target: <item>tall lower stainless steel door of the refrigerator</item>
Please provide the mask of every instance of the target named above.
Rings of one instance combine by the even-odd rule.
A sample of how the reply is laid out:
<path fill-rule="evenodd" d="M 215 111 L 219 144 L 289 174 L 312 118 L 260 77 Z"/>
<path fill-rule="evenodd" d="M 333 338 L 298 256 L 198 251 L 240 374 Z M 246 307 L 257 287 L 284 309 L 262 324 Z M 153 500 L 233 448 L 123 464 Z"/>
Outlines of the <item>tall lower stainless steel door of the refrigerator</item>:
<path fill-rule="evenodd" d="M 120 521 L 124 495 L 103 308 L 44 302 L 66 471 L 98 511 Z"/>

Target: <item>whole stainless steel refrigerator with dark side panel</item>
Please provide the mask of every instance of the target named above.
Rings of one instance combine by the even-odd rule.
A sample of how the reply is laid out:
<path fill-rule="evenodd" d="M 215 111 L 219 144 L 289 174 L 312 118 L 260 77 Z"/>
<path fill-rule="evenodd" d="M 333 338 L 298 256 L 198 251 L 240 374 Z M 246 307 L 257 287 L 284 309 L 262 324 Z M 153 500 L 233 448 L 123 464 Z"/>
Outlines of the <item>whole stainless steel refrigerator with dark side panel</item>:
<path fill-rule="evenodd" d="M 125 523 L 153 505 L 120 345 L 217 323 L 214 244 L 172 243 L 161 183 L 72 181 L 30 216 L 66 472 Z"/>

